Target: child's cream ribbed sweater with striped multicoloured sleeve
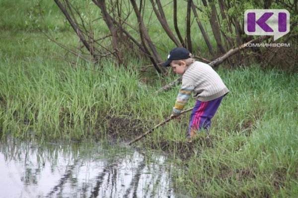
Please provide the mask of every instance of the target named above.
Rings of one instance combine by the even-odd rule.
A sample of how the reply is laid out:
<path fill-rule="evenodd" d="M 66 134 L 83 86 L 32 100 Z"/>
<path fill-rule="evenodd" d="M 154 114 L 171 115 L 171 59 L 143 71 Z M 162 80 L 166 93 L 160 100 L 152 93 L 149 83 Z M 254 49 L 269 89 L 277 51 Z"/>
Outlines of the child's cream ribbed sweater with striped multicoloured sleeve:
<path fill-rule="evenodd" d="M 206 63 L 195 61 L 182 75 L 182 86 L 178 93 L 172 114 L 178 116 L 184 108 L 191 94 L 193 99 L 210 101 L 227 94 L 221 77 Z"/>

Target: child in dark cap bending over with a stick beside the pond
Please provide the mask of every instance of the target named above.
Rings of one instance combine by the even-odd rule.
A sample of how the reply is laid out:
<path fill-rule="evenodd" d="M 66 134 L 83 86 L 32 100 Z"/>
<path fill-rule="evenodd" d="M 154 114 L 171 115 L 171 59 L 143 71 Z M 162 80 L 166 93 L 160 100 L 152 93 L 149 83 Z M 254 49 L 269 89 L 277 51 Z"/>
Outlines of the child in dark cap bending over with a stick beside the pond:
<path fill-rule="evenodd" d="M 201 129 L 207 129 L 209 133 L 211 118 L 229 92 L 221 77 L 208 64 L 195 61 L 185 48 L 172 49 L 162 66 L 171 66 L 182 76 L 182 86 L 170 117 L 178 116 L 194 93 L 192 98 L 197 101 L 190 115 L 187 138 L 193 138 Z"/>

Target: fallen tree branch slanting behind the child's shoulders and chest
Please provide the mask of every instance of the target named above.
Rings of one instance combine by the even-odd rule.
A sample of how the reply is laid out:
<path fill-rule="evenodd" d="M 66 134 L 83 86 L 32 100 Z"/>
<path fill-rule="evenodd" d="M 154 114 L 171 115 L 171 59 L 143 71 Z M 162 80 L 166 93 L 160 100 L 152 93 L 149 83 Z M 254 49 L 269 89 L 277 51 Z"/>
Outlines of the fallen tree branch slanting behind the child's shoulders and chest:
<path fill-rule="evenodd" d="M 224 62 L 224 60 L 226 60 L 228 57 L 234 55 L 235 53 L 241 51 L 242 49 L 246 49 L 248 48 L 249 44 L 253 44 L 253 43 L 261 43 L 262 41 L 268 39 L 270 36 L 261 36 L 258 37 L 256 39 L 253 39 L 241 46 L 239 46 L 238 48 L 235 49 L 230 49 L 228 52 L 226 52 L 224 55 L 222 55 L 221 57 L 215 59 L 214 61 L 208 63 L 211 67 L 217 67 L 219 66 L 222 62 Z M 175 87 L 177 84 L 181 83 L 182 81 L 182 77 L 176 79 L 175 81 L 163 86 L 162 88 L 160 88 L 159 90 L 156 91 L 156 93 L 162 92 L 162 91 L 168 91 L 169 89 L 171 89 L 172 87 Z"/>

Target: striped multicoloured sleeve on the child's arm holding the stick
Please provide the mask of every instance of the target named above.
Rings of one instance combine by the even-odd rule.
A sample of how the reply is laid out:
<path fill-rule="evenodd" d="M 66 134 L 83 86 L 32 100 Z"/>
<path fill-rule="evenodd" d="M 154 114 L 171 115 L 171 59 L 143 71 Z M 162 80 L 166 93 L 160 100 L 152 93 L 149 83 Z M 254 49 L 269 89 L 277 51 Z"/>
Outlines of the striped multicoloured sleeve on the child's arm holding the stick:
<path fill-rule="evenodd" d="M 181 89 L 179 90 L 176 102 L 175 102 L 175 107 L 173 108 L 172 114 L 174 116 L 180 115 L 182 109 L 184 108 L 185 104 L 189 100 L 191 93 L 195 87 L 193 85 L 182 85 Z"/>

